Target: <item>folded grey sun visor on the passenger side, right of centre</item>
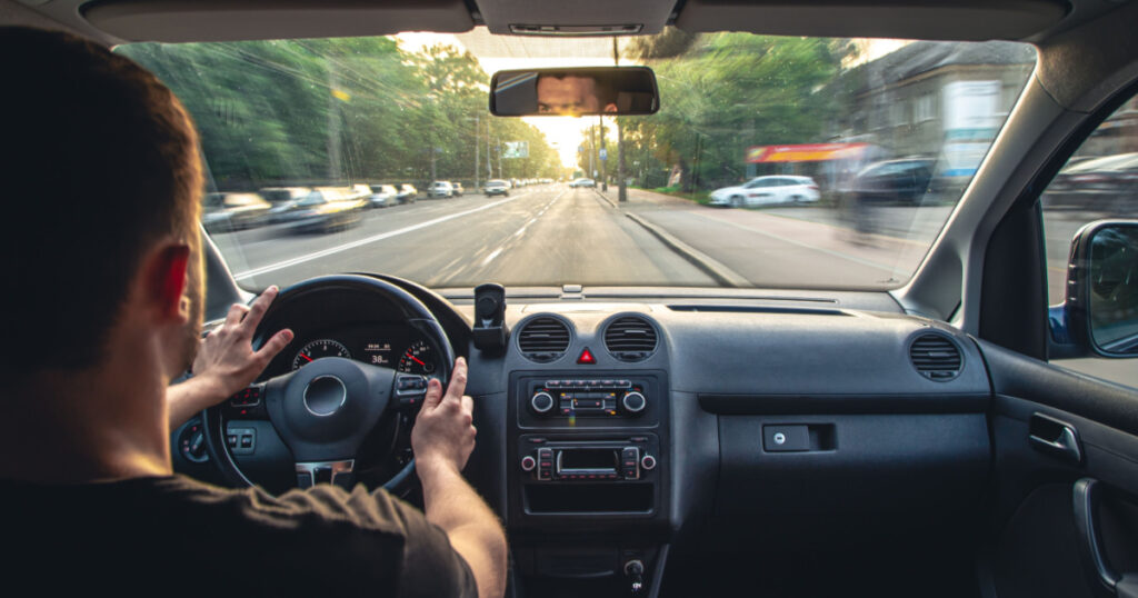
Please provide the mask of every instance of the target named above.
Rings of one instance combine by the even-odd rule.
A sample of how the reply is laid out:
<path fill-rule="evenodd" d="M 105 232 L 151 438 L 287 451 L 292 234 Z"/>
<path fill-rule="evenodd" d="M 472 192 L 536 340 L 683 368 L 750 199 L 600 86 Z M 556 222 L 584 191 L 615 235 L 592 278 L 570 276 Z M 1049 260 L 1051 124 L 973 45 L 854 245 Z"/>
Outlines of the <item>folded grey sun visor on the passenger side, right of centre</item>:
<path fill-rule="evenodd" d="M 1061 0 L 687 0 L 676 26 L 820 38 L 1022 40 L 1067 14 Z"/>

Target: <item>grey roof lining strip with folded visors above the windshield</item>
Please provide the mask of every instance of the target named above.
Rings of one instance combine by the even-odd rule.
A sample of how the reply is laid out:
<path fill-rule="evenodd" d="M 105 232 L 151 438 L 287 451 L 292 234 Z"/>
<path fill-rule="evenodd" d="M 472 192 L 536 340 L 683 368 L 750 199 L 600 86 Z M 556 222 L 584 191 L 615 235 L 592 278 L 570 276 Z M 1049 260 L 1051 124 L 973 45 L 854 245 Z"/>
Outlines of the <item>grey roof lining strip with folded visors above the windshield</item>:
<path fill-rule="evenodd" d="M 6 23 L 40 26 L 46 23 L 39 17 L 47 17 L 105 43 L 459 33 L 479 24 L 490 33 L 509 33 L 518 24 L 636 24 L 654 33 L 670 23 L 691 32 L 1038 42 L 1118 6 L 1108 0 L 0 0 L 0 15 L 13 17 Z M 25 7 L 38 17 L 17 14 Z"/>

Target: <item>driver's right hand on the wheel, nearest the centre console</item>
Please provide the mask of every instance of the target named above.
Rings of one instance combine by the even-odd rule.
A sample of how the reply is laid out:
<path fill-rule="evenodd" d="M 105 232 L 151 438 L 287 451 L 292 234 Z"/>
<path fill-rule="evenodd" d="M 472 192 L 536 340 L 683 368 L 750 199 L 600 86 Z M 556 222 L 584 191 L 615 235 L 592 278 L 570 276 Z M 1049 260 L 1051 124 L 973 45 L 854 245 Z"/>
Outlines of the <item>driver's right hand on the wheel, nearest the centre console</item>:
<path fill-rule="evenodd" d="M 411 431 L 411 449 L 415 453 L 419 475 L 447 469 L 462 472 L 470 452 L 475 450 L 473 400 L 467 390 L 467 361 L 457 358 L 451 384 L 443 393 L 443 385 L 431 379 L 427 396 Z"/>

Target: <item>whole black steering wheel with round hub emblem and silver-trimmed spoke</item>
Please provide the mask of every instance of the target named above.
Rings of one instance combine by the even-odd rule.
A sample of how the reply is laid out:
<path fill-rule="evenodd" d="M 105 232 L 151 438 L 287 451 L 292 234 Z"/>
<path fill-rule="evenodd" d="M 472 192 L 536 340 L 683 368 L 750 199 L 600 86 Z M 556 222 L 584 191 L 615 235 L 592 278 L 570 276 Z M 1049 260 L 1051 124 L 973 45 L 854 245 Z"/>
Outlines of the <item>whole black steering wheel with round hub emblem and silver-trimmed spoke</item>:
<path fill-rule="evenodd" d="M 313 278 L 288 287 L 277 296 L 253 336 L 259 347 L 272 334 L 290 322 L 278 321 L 281 313 L 297 301 L 311 301 L 313 295 L 335 305 L 340 293 L 362 293 L 376 298 L 384 309 L 395 306 L 403 321 L 422 333 L 443 363 L 437 378 L 445 388 L 451 379 L 454 350 L 435 314 L 406 290 L 366 276 L 341 275 Z M 234 403 L 242 420 L 267 419 L 291 452 L 297 485 L 305 488 L 331 482 L 351 488 L 355 483 L 357 456 L 372 431 L 397 420 L 399 413 L 417 410 L 427 393 L 427 377 L 403 374 L 391 368 L 372 366 L 345 358 L 318 359 L 305 367 L 258 382 L 225 402 L 203 412 L 206 445 L 225 480 L 238 486 L 251 486 L 237 460 L 229 437 L 229 421 Z M 251 443 L 251 442 L 250 442 Z M 369 460 L 393 457 L 370 454 Z M 414 458 L 384 488 L 396 493 L 413 482 Z"/>

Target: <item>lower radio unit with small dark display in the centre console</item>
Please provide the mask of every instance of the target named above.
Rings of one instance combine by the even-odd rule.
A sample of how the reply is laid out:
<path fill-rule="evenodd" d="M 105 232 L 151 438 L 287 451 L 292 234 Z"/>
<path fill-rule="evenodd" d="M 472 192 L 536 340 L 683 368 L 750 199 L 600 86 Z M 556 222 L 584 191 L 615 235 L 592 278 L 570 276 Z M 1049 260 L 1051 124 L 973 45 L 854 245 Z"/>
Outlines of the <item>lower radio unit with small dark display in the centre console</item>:
<path fill-rule="evenodd" d="M 522 472 L 538 482 L 612 482 L 648 478 L 658 465 L 654 434 L 612 440 L 519 439 Z"/>

